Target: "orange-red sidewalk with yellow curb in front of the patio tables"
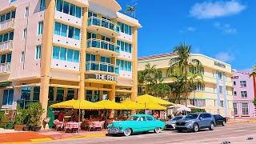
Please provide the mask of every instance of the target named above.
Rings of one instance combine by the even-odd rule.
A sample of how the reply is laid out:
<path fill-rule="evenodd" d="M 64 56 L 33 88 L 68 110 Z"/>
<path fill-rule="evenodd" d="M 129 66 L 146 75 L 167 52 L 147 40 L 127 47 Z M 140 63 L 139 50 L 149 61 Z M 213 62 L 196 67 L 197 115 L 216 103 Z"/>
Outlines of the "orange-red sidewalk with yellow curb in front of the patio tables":
<path fill-rule="evenodd" d="M 0 143 L 47 142 L 61 139 L 97 138 L 105 136 L 106 130 L 90 132 L 80 131 L 79 133 L 64 133 L 63 131 L 55 130 L 41 130 L 40 132 L 17 132 L 14 130 L 2 130 L 0 133 Z"/>

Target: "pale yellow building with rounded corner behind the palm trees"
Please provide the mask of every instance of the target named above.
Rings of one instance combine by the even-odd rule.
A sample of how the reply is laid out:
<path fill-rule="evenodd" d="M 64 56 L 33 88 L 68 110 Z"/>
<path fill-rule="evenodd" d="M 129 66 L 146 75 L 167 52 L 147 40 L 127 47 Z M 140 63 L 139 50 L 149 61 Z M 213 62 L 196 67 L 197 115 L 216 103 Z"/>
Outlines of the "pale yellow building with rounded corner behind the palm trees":
<path fill-rule="evenodd" d="M 138 58 L 138 70 L 144 70 L 145 65 L 150 63 L 162 71 L 165 83 L 171 83 L 170 78 L 166 78 L 167 68 L 170 66 L 170 58 L 177 57 L 175 54 L 158 54 L 149 57 Z M 191 58 L 202 62 L 204 85 L 195 86 L 195 95 L 192 92 L 189 96 L 190 104 L 202 107 L 211 114 L 222 114 L 224 116 L 233 115 L 233 96 L 231 82 L 231 66 L 217 59 L 207 57 L 203 54 L 191 54 Z M 139 89 L 138 94 L 142 93 Z M 166 98 L 167 99 L 167 98 Z M 172 98 L 170 98 L 172 100 Z M 182 101 L 185 104 L 186 101 Z"/>

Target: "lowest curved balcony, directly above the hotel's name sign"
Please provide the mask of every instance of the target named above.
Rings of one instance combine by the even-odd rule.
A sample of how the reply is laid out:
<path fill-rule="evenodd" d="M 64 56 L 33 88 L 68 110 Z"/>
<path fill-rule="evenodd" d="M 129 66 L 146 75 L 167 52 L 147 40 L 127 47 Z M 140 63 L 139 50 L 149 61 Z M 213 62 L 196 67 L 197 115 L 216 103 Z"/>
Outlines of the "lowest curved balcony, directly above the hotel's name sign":
<path fill-rule="evenodd" d="M 106 62 L 86 62 L 86 71 L 95 74 L 95 71 L 102 71 L 106 74 L 119 74 L 118 66 Z"/>

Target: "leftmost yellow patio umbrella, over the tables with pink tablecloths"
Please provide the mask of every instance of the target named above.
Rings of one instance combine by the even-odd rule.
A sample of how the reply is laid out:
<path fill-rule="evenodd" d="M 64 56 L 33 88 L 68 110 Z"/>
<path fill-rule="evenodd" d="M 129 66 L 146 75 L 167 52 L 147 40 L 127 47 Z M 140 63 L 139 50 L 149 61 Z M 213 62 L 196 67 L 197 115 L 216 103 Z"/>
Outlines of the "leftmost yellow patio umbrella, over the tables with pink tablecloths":
<path fill-rule="evenodd" d="M 102 106 L 94 102 L 88 102 L 86 100 L 69 100 L 65 102 L 59 102 L 51 105 L 53 108 L 66 108 L 66 109 L 102 109 Z"/>

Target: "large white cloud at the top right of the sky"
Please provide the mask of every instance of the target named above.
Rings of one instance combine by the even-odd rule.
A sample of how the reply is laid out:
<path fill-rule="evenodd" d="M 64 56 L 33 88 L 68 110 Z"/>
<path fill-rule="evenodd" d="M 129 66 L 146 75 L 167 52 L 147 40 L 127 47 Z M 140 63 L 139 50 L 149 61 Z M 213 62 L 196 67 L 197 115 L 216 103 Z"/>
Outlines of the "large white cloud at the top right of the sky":
<path fill-rule="evenodd" d="M 246 6 L 236 0 L 229 2 L 202 2 L 196 3 L 191 7 L 190 15 L 198 19 L 209 19 L 238 14 L 245 9 Z"/>

